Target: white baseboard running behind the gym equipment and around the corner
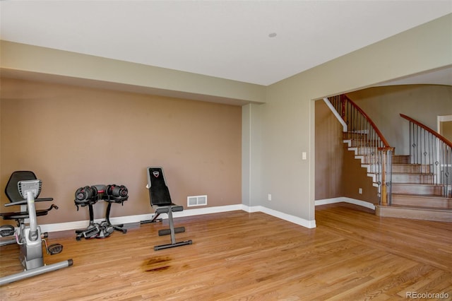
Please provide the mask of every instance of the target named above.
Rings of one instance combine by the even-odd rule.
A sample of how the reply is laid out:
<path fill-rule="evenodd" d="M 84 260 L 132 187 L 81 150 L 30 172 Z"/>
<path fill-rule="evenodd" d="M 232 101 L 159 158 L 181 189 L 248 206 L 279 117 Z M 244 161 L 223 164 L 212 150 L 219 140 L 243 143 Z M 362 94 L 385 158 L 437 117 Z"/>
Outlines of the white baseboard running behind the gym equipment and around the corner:
<path fill-rule="evenodd" d="M 270 216 L 275 216 L 276 218 L 281 218 L 283 220 L 287 220 L 291 223 L 295 223 L 297 225 L 302 225 L 306 228 L 316 228 L 316 221 L 315 220 L 305 220 L 304 218 L 298 218 L 297 216 L 291 216 L 287 213 L 282 213 L 279 211 L 275 211 L 273 209 L 269 209 L 263 206 L 246 206 L 242 203 L 237 205 L 228 205 L 228 206 L 217 206 L 217 207 L 208 207 L 208 208 L 196 208 L 196 209 L 186 209 L 184 211 L 174 212 L 173 216 L 174 218 L 182 218 L 187 216 L 201 216 L 203 214 L 210 214 L 210 213 L 221 213 L 221 212 L 229 212 L 229 211 L 237 211 L 237 210 L 243 210 L 249 213 L 252 212 L 263 212 Z M 137 216 L 120 216 L 117 218 L 110 218 L 110 222 L 114 225 L 116 224 L 127 224 L 127 223 L 140 223 L 141 220 L 150 220 L 153 217 L 153 213 L 149 214 L 141 214 Z M 166 215 L 162 215 L 163 218 L 166 217 Z M 99 218 L 95 219 L 95 223 L 100 223 L 105 218 Z M 68 223 L 54 223 L 54 224 L 47 224 L 47 225 L 40 225 L 42 232 L 57 232 L 57 231 L 66 231 L 66 230 L 76 230 L 76 229 L 83 229 L 88 227 L 89 220 L 78 220 L 74 222 L 68 222 Z"/>

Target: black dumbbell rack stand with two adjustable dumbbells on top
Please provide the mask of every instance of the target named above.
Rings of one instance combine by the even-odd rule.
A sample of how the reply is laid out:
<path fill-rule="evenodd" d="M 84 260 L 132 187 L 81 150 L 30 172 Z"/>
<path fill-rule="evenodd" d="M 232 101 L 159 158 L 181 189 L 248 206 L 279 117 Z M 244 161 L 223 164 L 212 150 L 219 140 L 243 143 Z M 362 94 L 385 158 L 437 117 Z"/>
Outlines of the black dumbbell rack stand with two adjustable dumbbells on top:
<path fill-rule="evenodd" d="M 117 187 L 119 187 L 119 190 Z M 118 193 L 118 191 L 120 192 Z M 88 206 L 90 213 L 90 224 L 87 228 L 76 230 L 76 240 L 81 240 L 83 237 L 85 239 L 106 238 L 109 237 L 114 230 L 121 231 L 125 234 L 127 229 L 123 228 L 124 225 L 113 225 L 109 220 L 109 215 L 112 203 L 121 203 L 121 206 L 124 206 L 124 201 L 127 199 L 129 199 L 129 196 L 127 195 L 127 189 L 124 186 L 94 185 L 91 187 L 86 186 L 77 189 L 74 203 L 77 206 L 77 211 L 78 206 Z M 108 203 L 107 210 L 105 212 L 105 220 L 101 223 L 94 222 L 93 205 L 97 203 L 97 201 L 106 201 Z"/>

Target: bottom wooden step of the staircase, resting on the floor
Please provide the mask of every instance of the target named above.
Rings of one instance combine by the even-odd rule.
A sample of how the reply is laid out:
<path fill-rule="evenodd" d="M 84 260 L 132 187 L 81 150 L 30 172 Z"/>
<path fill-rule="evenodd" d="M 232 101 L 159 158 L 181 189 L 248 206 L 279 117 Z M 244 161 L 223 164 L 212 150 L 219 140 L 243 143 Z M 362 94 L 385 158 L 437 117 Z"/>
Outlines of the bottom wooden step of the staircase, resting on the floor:
<path fill-rule="evenodd" d="M 410 218 L 413 220 L 434 220 L 452 223 L 452 209 L 376 205 L 375 214 L 386 218 Z"/>

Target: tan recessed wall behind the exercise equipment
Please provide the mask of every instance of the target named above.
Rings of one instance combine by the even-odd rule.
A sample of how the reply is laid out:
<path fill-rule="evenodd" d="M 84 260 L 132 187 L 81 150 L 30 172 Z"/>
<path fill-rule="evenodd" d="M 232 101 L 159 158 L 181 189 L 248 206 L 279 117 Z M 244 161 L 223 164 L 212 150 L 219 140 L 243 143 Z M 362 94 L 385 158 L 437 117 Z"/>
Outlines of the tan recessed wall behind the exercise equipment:
<path fill-rule="evenodd" d="M 153 212 L 145 189 L 153 165 L 164 167 L 175 203 L 200 194 L 208 206 L 241 203 L 239 106 L 9 78 L 1 78 L 0 101 L 0 186 L 14 170 L 34 171 L 41 196 L 59 206 L 42 224 L 87 220 L 73 195 L 93 184 L 128 187 L 112 217 Z M 0 196 L 8 202 L 3 188 Z M 99 203 L 95 218 L 104 215 Z"/>

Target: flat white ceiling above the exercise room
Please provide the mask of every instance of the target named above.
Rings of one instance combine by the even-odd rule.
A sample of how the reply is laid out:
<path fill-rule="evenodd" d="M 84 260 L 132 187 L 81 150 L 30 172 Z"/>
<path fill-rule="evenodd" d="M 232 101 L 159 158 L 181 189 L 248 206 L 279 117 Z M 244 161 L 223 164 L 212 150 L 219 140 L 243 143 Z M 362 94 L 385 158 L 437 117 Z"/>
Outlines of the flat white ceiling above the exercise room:
<path fill-rule="evenodd" d="M 1 40 L 269 85 L 452 13 L 452 0 L 17 0 L 0 9 Z"/>

